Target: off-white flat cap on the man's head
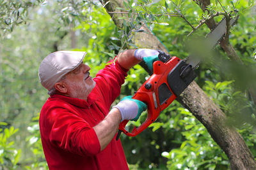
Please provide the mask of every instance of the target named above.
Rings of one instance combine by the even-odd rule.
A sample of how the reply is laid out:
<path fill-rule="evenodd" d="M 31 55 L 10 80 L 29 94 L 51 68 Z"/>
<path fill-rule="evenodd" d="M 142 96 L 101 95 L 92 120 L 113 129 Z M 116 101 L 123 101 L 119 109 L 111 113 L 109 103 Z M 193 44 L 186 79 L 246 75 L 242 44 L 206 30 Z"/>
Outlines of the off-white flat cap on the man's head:
<path fill-rule="evenodd" d="M 40 83 L 47 90 L 51 90 L 54 84 L 62 76 L 76 69 L 84 59 L 86 52 L 59 51 L 47 55 L 42 60 L 38 69 Z"/>

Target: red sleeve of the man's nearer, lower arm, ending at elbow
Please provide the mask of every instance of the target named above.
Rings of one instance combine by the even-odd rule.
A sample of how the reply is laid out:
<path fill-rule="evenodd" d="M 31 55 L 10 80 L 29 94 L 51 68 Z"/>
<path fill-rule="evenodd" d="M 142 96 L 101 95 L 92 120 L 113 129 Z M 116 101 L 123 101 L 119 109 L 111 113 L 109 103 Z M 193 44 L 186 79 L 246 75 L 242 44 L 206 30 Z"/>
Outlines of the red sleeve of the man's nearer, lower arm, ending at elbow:
<path fill-rule="evenodd" d="M 94 129 L 67 108 L 51 108 L 44 121 L 53 145 L 79 155 L 96 155 L 100 152 Z"/>

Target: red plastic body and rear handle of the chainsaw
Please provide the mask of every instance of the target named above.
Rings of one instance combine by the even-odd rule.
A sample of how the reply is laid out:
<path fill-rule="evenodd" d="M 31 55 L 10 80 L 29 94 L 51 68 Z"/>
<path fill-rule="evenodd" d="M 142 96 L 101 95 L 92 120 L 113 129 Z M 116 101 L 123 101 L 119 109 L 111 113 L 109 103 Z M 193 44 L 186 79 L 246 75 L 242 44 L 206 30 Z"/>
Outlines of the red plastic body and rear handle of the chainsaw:
<path fill-rule="evenodd" d="M 129 120 L 124 120 L 119 125 L 120 131 L 124 132 L 127 136 L 136 136 L 140 134 L 140 132 L 145 130 L 157 119 L 161 111 L 167 108 L 176 99 L 177 96 L 173 94 L 172 89 L 168 85 L 167 76 L 179 62 L 180 59 L 174 56 L 172 59 L 168 60 L 168 62 L 157 60 L 153 63 L 154 73 L 147 81 L 145 81 L 145 83 L 143 83 L 140 89 L 138 89 L 136 94 L 132 97 L 132 99 L 138 99 L 147 104 L 147 119 L 139 127 L 134 127 L 132 132 L 125 130 L 125 125 Z M 159 96 L 159 90 L 163 89 L 162 87 L 168 88 L 168 90 L 166 90 L 166 92 L 169 93 L 167 94 L 167 97 L 165 94 L 163 95 L 165 96 L 164 98 Z M 163 94 L 163 92 L 161 93 Z M 161 101 L 159 99 L 161 99 Z"/>

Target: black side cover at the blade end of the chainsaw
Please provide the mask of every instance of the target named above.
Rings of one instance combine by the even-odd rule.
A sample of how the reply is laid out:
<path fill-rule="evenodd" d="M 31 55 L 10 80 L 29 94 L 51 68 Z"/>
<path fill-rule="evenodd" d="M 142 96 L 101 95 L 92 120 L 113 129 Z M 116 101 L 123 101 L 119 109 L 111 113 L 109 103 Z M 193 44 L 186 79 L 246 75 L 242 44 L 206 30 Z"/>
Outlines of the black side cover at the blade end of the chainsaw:
<path fill-rule="evenodd" d="M 168 74 L 167 82 L 172 92 L 179 96 L 195 78 L 196 73 L 191 66 L 184 60 L 180 60 Z"/>

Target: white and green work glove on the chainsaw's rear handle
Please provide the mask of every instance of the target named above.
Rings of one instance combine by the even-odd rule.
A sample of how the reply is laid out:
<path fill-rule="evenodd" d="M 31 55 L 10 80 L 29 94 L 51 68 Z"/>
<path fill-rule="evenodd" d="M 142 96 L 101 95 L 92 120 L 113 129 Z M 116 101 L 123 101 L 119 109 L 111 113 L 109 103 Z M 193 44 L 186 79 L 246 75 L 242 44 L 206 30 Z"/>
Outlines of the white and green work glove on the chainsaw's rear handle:
<path fill-rule="evenodd" d="M 137 121 L 140 117 L 141 113 L 147 110 L 147 104 L 142 101 L 132 99 L 132 96 L 124 97 L 116 106 L 113 108 L 117 108 L 120 113 L 122 120 L 134 120 Z"/>

